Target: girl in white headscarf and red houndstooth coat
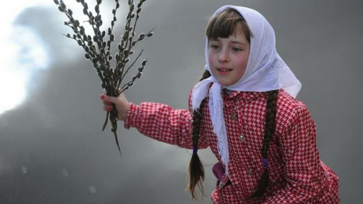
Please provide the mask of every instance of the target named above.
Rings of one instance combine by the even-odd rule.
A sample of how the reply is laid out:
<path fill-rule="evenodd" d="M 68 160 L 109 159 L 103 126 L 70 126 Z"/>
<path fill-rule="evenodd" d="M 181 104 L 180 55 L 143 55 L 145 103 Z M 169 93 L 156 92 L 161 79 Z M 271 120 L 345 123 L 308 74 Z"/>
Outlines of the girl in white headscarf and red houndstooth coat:
<path fill-rule="evenodd" d="M 115 103 L 125 128 L 193 149 L 189 190 L 203 192 L 197 150 L 220 161 L 215 204 L 339 203 L 338 176 L 320 159 L 315 123 L 294 97 L 301 84 L 276 52 L 271 25 L 257 11 L 226 5 L 209 20 L 205 73 L 189 94 L 189 110 L 161 103 Z"/>

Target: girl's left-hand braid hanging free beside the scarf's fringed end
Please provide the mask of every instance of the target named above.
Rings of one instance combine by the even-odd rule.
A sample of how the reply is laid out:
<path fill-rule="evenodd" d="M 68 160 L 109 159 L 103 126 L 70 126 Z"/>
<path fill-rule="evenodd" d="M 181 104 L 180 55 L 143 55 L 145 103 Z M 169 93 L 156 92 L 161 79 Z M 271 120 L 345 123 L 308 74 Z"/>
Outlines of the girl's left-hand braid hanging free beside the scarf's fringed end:
<path fill-rule="evenodd" d="M 203 73 L 202 78 L 200 81 L 208 78 L 211 76 L 211 73 L 209 71 L 205 71 Z M 200 132 L 200 122 L 202 119 L 202 110 L 205 105 L 205 98 L 200 103 L 200 107 L 198 110 L 193 111 L 193 130 L 192 130 L 192 142 L 193 142 L 193 154 L 192 159 L 189 163 L 189 185 L 188 190 L 192 194 L 192 199 L 201 200 L 199 197 L 197 197 L 195 192 L 195 187 L 198 185 L 199 190 L 202 193 L 202 198 L 204 196 L 204 189 L 203 189 L 203 180 L 204 180 L 204 168 L 203 164 L 201 163 L 199 156 L 197 155 L 197 148 L 198 148 L 198 139 L 199 139 L 199 132 Z"/>

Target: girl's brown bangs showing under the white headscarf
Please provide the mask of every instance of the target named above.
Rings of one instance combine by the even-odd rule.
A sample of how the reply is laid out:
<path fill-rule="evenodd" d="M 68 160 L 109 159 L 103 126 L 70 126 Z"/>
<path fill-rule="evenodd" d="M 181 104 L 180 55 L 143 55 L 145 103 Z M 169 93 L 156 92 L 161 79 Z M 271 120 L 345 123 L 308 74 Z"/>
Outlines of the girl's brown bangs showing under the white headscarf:
<path fill-rule="evenodd" d="M 209 20 L 205 35 L 208 40 L 219 37 L 228 38 L 231 35 L 236 35 L 237 31 L 243 32 L 250 43 L 252 33 L 245 19 L 236 9 L 227 8 Z"/>

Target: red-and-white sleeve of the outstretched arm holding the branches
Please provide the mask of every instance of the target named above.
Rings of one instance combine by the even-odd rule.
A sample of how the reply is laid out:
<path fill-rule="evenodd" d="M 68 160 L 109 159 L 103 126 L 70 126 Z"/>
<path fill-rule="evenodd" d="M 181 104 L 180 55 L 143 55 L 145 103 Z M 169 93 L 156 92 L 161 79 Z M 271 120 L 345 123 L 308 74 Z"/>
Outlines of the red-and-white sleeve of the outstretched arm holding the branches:
<path fill-rule="evenodd" d="M 192 145 L 192 107 L 189 93 L 189 110 L 175 110 L 172 107 L 153 102 L 140 105 L 130 103 L 124 127 L 135 127 L 141 134 L 161 142 L 189 148 Z M 199 136 L 198 148 L 207 148 L 205 136 Z"/>

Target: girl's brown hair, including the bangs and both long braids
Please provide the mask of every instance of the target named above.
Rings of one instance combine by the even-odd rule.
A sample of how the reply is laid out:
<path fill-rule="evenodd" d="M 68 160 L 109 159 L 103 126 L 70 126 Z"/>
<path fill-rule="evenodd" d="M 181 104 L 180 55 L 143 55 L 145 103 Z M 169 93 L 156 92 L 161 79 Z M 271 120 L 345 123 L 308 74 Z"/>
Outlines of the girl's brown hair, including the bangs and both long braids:
<path fill-rule="evenodd" d="M 242 15 L 233 8 L 227 8 L 220 12 L 216 16 L 213 16 L 207 25 L 205 35 L 208 40 L 211 38 L 228 38 L 232 34 L 236 34 L 236 29 L 242 29 L 245 33 L 248 42 L 253 37 L 246 21 Z M 211 76 L 208 70 L 203 73 L 200 81 Z M 266 111 L 266 125 L 265 125 L 265 136 L 262 144 L 262 158 L 267 159 L 267 151 L 269 148 L 269 142 L 275 130 L 275 118 L 276 118 L 276 103 L 277 103 L 278 90 L 269 91 L 267 99 L 267 111 Z M 201 163 L 199 156 L 197 155 L 198 139 L 200 133 L 200 123 L 202 119 L 203 108 L 205 105 L 205 98 L 200 104 L 199 109 L 193 111 L 193 122 L 192 122 L 192 142 L 193 142 L 193 154 L 192 159 L 189 163 L 189 185 L 188 189 L 191 192 L 192 199 L 201 200 L 196 195 L 196 186 L 202 193 L 202 200 L 204 196 L 203 191 L 203 180 L 204 180 L 204 168 Z M 195 150 L 195 151 L 194 151 Z M 265 166 L 265 165 L 264 165 Z M 249 198 L 260 197 L 266 191 L 269 181 L 269 175 L 267 168 L 264 168 L 260 181 L 258 181 L 255 192 L 249 196 Z"/>

